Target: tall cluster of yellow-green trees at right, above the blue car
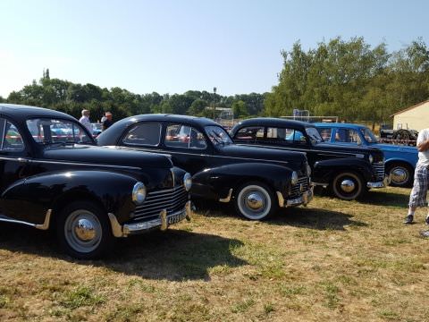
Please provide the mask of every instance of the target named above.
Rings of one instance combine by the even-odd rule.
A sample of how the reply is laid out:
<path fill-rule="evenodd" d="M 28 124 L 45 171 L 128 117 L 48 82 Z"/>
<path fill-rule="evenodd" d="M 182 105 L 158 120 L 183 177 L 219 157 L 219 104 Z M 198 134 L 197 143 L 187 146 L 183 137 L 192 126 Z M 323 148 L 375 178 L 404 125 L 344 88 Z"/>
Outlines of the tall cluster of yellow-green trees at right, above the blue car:
<path fill-rule="evenodd" d="M 333 38 L 303 50 L 282 51 L 279 83 L 265 100 L 265 114 L 336 115 L 345 121 L 391 122 L 390 115 L 429 98 L 429 51 L 418 38 L 389 53 L 364 38 Z"/>

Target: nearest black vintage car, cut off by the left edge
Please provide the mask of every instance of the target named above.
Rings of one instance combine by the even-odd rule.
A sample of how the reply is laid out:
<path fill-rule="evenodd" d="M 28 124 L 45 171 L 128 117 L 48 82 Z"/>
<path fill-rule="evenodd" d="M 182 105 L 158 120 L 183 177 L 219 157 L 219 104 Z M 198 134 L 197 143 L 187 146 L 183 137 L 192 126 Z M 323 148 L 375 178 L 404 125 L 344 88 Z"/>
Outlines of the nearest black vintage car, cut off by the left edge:
<path fill-rule="evenodd" d="M 0 104 L 0 133 L 0 221 L 52 227 L 72 257 L 190 214 L 190 174 L 169 157 L 99 148 L 70 115 L 32 106 Z"/>

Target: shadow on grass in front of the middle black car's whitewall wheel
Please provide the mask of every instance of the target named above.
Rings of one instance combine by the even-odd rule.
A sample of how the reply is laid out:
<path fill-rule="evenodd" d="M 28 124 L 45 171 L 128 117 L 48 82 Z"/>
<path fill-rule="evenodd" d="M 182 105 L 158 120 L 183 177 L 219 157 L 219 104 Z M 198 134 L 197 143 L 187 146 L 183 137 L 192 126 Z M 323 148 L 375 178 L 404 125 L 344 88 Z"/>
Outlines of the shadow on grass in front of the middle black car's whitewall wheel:
<path fill-rule="evenodd" d="M 345 230 L 346 226 L 366 227 L 367 224 L 353 220 L 353 216 L 339 211 L 316 208 L 290 208 L 281 210 L 266 223 L 270 225 L 291 225 L 316 230 Z"/>

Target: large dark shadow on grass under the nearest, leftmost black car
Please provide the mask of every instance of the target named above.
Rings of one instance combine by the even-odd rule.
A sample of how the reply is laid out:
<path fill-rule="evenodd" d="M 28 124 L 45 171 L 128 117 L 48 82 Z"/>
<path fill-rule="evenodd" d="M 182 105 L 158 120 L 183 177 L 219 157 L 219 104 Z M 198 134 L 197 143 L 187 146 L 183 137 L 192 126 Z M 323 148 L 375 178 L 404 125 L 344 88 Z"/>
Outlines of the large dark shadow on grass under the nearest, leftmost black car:
<path fill-rule="evenodd" d="M 80 265 L 105 267 L 126 275 L 156 280 L 208 280 L 211 267 L 240 267 L 248 263 L 232 254 L 242 242 L 204 233 L 153 231 L 118 240 L 117 247 L 102 260 L 74 260 L 58 250 L 49 233 L 0 224 L 0 249 L 61 258 Z"/>

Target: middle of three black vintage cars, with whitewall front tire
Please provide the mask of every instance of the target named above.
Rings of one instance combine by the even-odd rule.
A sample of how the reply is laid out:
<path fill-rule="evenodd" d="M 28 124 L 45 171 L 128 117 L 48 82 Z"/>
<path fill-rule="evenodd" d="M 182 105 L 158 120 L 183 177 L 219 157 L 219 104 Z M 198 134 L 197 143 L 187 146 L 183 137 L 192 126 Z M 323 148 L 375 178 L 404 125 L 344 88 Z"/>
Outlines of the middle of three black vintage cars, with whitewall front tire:
<path fill-rule="evenodd" d="M 307 204 L 313 195 L 303 153 L 238 146 L 218 123 L 206 118 L 132 116 L 114 123 L 97 142 L 171 156 L 174 165 L 193 175 L 192 198 L 233 200 L 248 219 Z"/>

